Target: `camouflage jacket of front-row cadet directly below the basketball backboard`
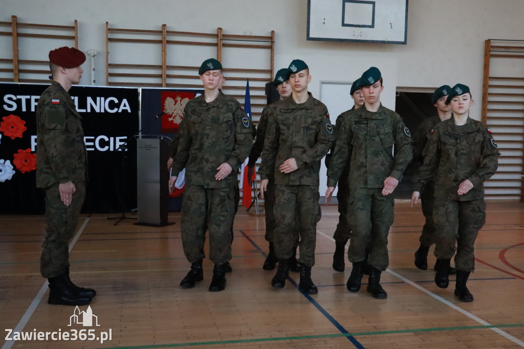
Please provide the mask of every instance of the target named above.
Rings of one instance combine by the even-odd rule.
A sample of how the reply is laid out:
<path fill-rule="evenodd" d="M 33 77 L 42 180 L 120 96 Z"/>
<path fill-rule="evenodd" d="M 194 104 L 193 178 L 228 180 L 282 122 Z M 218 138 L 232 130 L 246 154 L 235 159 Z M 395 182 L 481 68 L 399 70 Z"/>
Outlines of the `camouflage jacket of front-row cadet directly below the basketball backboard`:
<path fill-rule="evenodd" d="M 377 112 L 362 106 L 339 117 L 342 123 L 328 168 L 328 186 L 336 186 L 347 162 L 350 188 L 384 188 L 387 177 L 400 181 L 413 155 L 409 129 L 400 115 L 380 105 Z"/>

